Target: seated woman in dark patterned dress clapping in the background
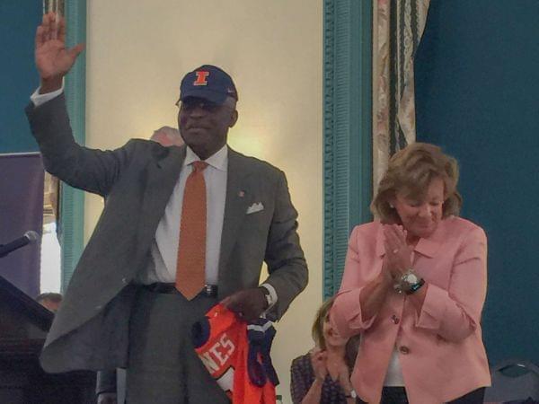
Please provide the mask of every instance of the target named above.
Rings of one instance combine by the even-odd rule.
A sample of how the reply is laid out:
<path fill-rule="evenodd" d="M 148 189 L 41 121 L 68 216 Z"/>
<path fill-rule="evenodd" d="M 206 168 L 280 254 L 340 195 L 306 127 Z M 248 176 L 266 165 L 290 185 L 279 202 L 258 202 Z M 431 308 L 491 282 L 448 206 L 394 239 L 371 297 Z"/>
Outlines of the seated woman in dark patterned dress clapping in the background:
<path fill-rule="evenodd" d="M 351 404 L 356 393 L 350 371 L 358 353 L 358 336 L 340 337 L 331 326 L 329 312 L 334 298 L 323 303 L 313 324 L 314 349 L 292 361 L 290 392 L 294 404 Z"/>

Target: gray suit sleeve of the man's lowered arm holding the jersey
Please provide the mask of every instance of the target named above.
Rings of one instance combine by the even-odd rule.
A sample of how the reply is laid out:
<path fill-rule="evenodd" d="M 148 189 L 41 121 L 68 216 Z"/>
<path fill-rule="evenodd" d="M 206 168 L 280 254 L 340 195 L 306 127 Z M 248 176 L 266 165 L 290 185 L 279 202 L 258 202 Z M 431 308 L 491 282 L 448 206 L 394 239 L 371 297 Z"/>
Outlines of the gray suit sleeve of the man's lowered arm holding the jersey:
<path fill-rule="evenodd" d="M 308 280 L 307 264 L 297 234 L 297 212 L 282 171 L 279 172 L 265 261 L 270 277 L 264 282 L 272 285 L 278 295 L 278 302 L 268 316 L 270 320 L 278 320 L 296 295 L 305 289 Z"/>

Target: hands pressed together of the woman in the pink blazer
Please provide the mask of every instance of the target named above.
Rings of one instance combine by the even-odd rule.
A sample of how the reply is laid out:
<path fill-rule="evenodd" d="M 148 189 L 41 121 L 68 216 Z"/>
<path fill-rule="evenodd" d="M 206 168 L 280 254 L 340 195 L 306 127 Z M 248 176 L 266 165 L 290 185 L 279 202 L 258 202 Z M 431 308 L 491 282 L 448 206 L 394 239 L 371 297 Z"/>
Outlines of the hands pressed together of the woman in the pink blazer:
<path fill-rule="evenodd" d="M 401 277 L 411 268 L 411 247 L 406 235 L 406 230 L 398 224 L 384 225 L 384 270 L 393 278 Z"/>

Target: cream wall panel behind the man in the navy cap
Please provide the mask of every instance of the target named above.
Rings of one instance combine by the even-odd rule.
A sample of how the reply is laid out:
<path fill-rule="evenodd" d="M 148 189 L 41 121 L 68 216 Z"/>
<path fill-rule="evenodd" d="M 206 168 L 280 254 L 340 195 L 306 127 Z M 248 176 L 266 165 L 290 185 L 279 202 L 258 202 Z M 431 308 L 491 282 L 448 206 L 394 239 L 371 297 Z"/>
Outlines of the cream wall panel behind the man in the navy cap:
<path fill-rule="evenodd" d="M 272 350 L 283 402 L 291 402 L 290 361 L 312 346 L 322 302 L 322 14 L 323 2 L 313 0 L 88 2 L 87 145 L 114 148 L 176 127 L 181 77 L 209 63 L 238 88 L 230 145 L 287 172 L 310 281 L 278 324 Z M 88 237 L 102 202 L 88 197 L 85 208 Z"/>

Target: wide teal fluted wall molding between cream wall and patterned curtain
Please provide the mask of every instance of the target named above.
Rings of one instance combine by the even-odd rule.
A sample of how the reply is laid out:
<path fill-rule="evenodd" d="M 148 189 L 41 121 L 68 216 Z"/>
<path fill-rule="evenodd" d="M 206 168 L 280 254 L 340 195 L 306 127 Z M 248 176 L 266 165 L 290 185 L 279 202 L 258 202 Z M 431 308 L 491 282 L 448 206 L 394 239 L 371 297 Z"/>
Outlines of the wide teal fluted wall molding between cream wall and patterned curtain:
<path fill-rule="evenodd" d="M 324 0 L 323 295 L 340 286 L 349 232 L 371 220 L 372 0 Z"/>

